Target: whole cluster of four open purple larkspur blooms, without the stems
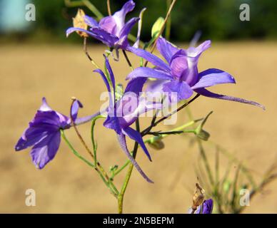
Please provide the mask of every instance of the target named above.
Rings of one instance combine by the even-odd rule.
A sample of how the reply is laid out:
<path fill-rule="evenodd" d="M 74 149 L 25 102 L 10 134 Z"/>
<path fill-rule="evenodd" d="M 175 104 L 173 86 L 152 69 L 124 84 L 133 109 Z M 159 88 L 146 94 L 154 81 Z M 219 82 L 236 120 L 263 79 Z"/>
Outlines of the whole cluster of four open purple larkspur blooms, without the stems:
<path fill-rule="evenodd" d="M 119 145 L 125 152 L 126 156 L 131 160 L 136 169 L 148 181 L 152 182 L 146 174 L 141 170 L 134 157 L 129 152 L 126 145 L 126 136 L 140 145 L 143 152 L 149 160 L 151 155 L 143 142 L 143 135 L 138 130 L 131 128 L 131 125 L 138 120 L 139 115 L 148 110 L 161 110 L 161 103 L 147 102 L 141 98 L 140 93 L 143 88 L 151 93 L 167 93 L 170 103 L 178 103 L 181 100 L 191 98 L 193 93 L 198 93 L 210 98 L 218 98 L 223 100 L 233 100 L 241 103 L 248 103 L 263 108 L 262 105 L 245 100 L 235 98 L 228 95 L 212 93 L 206 88 L 222 83 L 235 83 L 235 79 L 231 74 L 209 68 L 206 71 L 198 72 L 198 60 L 203 53 L 211 46 L 211 41 L 204 41 L 198 47 L 189 47 L 182 49 L 174 46 L 165 38 L 159 36 L 156 42 L 157 49 L 163 56 L 164 60 L 139 48 L 136 45 L 129 44 L 128 36 L 131 28 L 140 20 L 140 17 L 130 19 L 125 23 L 126 14 L 132 11 L 135 7 L 134 1 L 127 1 L 120 11 L 117 11 L 112 16 L 106 16 L 100 21 L 96 21 L 90 16 L 82 16 L 85 26 L 72 27 L 66 31 L 66 35 L 74 31 L 79 32 L 84 37 L 93 37 L 103 42 L 110 48 L 110 51 L 120 50 L 134 53 L 134 55 L 143 58 L 145 61 L 153 64 L 153 68 L 141 65 L 131 71 L 126 80 L 128 84 L 123 94 L 120 97 L 116 96 L 116 78 L 109 63 L 109 56 L 104 55 L 106 71 L 97 68 L 94 72 L 98 73 L 104 81 L 106 89 L 109 91 L 109 106 L 101 115 L 106 116 L 104 127 L 114 130 L 116 137 L 119 140 Z M 89 29 L 86 29 L 89 28 Z M 139 29 L 140 30 L 140 29 Z M 138 32 L 139 39 L 139 32 Z M 104 73 L 105 72 L 105 73 Z M 177 94 L 174 97 L 172 94 Z M 131 104 L 130 104 L 131 103 Z M 132 105 L 129 113 L 119 115 L 118 110 Z M 62 115 L 52 110 L 43 98 L 43 104 L 37 111 L 35 117 L 29 123 L 29 128 L 25 130 L 19 142 L 16 144 L 16 150 L 24 150 L 26 147 L 31 148 L 31 157 L 39 169 L 43 168 L 50 160 L 54 158 L 61 140 L 60 130 L 66 130 L 73 125 L 87 123 L 100 113 L 95 113 L 84 118 L 77 118 L 78 109 L 82 108 L 79 100 L 75 100 L 71 105 L 70 117 Z M 122 114 L 122 113 L 121 113 Z M 211 210 L 212 202 L 208 200 L 203 203 L 203 213 L 206 210 Z M 207 208 L 207 209 L 205 209 Z"/>

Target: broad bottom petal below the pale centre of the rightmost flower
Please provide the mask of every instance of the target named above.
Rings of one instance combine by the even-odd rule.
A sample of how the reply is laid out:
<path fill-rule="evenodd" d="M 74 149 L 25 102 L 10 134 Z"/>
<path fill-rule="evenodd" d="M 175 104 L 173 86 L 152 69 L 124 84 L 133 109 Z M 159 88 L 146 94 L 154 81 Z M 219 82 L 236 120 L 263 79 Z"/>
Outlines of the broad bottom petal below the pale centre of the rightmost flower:
<path fill-rule="evenodd" d="M 169 100 L 171 100 L 171 102 L 179 102 L 180 100 L 188 99 L 193 95 L 193 90 L 188 86 L 188 83 L 184 81 L 174 80 L 165 83 L 163 84 L 163 91 L 168 92 Z M 177 93 L 177 100 L 173 99 L 173 93 Z"/>

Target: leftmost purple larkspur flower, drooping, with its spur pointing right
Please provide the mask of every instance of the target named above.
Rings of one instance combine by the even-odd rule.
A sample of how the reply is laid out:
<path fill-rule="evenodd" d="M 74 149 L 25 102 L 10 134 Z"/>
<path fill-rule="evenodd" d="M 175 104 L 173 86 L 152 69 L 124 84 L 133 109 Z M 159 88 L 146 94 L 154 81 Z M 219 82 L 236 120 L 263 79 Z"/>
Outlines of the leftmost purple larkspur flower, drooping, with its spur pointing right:
<path fill-rule="evenodd" d="M 75 100 L 71 105 L 71 116 L 76 125 L 86 123 L 94 115 L 86 116 L 84 118 L 77 118 L 79 108 L 83 105 L 79 100 Z M 48 162 L 50 162 L 56 155 L 61 142 L 61 129 L 68 129 L 71 127 L 71 118 L 61 113 L 52 110 L 46 102 L 46 98 L 42 98 L 42 105 L 37 110 L 34 119 L 29 123 L 24 133 L 16 143 L 15 150 L 24 150 L 27 147 L 31 148 L 31 158 L 37 168 L 42 169 Z"/>

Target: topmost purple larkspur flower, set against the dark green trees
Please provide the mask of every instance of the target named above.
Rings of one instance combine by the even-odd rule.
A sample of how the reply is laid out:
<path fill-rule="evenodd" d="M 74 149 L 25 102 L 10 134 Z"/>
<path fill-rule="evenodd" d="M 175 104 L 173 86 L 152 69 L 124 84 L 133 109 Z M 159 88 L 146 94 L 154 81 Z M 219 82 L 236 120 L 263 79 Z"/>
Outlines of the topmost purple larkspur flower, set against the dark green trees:
<path fill-rule="evenodd" d="M 99 41 L 105 43 L 110 48 L 126 49 L 129 46 L 128 35 L 131 28 L 139 21 L 139 18 L 132 18 L 125 24 L 125 17 L 135 7 L 134 1 L 127 1 L 120 11 L 114 13 L 113 16 L 106 16 L 99 21 L 99 23 L 90 16 L 84 16 L 85 23 L 91 27 L 87 31 L 83 28 L 68 28 L 66 36 L 74 31 L 82 31 L 87 33 Z"/>

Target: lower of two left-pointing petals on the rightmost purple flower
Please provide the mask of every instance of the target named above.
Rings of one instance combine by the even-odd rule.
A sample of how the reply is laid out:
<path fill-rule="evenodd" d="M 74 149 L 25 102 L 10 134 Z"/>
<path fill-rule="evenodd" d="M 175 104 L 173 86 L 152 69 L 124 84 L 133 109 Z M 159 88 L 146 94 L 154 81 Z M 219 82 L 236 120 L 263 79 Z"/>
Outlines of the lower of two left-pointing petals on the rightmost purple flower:
<path fill-rule="evenodd" d="M 163 80 L 172 80 L 172 76 L 165 71 L 156 70 L 148 67 L 138 67 L 127 76 L 126 80 L 134 78 L 157 78 Z"/>

